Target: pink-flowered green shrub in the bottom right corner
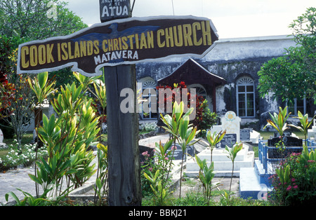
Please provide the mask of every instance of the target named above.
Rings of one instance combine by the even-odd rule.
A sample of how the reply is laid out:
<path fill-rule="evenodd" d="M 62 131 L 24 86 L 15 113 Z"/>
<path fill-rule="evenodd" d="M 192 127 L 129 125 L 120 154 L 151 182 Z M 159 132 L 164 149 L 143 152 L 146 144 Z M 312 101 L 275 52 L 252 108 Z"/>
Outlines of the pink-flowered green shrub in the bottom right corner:
<path fill-rule="evenodd" d="M 307 151 L 307 152 L 306 152 Z M 270 177 L 270 198 L 277 205 L 316 205 L 316 163 L 314 151 L 305 148 L 292 153 Z"/>

